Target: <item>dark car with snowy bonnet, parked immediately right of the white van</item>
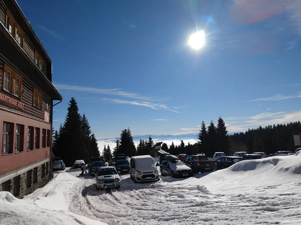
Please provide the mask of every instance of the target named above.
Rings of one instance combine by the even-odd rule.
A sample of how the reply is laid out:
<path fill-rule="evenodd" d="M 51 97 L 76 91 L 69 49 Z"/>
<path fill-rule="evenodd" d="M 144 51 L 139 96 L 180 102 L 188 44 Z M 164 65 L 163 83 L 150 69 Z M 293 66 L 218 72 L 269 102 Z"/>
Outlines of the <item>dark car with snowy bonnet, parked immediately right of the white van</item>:
<path fill-rule="evenodd" d="M 172 177 L 187 177 L 193 175 L 190 167 L 185 165 L 176 156 L 175 158 L 169 156 L 174 155 L 165 156 L 166 159 L 160 164 L 161 175 L 171 175 Z"/>

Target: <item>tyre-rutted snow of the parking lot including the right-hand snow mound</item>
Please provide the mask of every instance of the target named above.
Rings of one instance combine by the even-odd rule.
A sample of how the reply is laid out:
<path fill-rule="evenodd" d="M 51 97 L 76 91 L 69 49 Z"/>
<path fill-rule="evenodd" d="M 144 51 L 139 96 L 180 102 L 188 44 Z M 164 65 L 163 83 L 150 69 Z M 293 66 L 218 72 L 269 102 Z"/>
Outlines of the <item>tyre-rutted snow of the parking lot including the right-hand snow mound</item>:
<path fill-rule="evenodd" d="M 108 224 L 301 224 L 301 163 L 269 160 L 154 183 L 121 175 L 119 189 L 100 191 L 86 174 L 69 209 Z"/>

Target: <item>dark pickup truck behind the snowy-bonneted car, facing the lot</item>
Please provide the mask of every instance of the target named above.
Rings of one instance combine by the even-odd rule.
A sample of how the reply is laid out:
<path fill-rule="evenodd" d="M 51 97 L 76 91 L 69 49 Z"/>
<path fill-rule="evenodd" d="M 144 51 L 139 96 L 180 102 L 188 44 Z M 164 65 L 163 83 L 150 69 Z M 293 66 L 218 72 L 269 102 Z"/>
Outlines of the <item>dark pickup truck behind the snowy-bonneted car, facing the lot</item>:
<path fill-rule="evenodd" d="M 205 172 L 216 169 L 216 161 L 208 160 L 205 155 L 189 155 L 185 159 L 185 164 L 189 166 L 193 172 Z"/>

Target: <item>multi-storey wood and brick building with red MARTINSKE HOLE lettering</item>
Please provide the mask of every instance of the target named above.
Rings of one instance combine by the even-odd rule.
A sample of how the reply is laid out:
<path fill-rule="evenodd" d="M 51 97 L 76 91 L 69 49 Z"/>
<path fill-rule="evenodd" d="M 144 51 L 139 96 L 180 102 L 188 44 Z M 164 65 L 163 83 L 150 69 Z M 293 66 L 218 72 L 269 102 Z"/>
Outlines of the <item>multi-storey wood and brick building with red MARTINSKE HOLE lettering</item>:
<path fill-rule="evenodd" d="M 51 179 L 52 62 L 16 0 L 0 0 L 0 191 L 16 197 Z"/>

